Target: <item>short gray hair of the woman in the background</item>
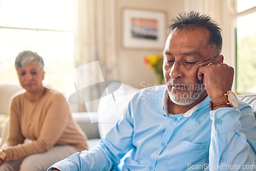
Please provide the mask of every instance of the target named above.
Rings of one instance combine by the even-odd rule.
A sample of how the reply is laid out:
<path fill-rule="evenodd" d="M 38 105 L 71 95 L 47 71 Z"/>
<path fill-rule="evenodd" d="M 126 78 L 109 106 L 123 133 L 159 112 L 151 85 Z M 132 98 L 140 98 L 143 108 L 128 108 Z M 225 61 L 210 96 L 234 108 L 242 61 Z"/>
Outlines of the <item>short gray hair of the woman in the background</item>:
<path fill-rule="evenodd" d="M 22 51 L 18 54 L 15 59 L 15 68 L 21 68 L 26 66 L 29 62 L 36 61 L 42 71 L 44 71 L 44 60 L 36 52 Z"/>

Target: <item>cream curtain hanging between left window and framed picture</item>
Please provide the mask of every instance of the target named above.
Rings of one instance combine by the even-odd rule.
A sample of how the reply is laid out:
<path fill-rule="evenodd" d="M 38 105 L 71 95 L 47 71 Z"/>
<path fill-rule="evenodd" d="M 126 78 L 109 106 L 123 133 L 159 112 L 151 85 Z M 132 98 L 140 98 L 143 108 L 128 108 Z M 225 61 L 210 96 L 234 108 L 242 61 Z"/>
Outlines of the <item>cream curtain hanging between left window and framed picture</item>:
<path fill-rule="evenodd" d="M 76 0 L 74 14 L 74 57 L 76 67 L 99 61 L 104 80 L 116 78 L 116 28 L 115 0 Z M 77 90 L 82 89 L 85 78 L 80 74 L 76 80 Z M 99 80 L 101 81 L 101 80 Z M 93 88 L 84 98 L 98 96 Z M 88 104 L 87 104 L 88 105 Z M 90 104 L 97 110 L 97 102 Z M 89 106 L 86 106 L 87 108 Z M 84 111 L 81 109 L 80 111 Z"/>

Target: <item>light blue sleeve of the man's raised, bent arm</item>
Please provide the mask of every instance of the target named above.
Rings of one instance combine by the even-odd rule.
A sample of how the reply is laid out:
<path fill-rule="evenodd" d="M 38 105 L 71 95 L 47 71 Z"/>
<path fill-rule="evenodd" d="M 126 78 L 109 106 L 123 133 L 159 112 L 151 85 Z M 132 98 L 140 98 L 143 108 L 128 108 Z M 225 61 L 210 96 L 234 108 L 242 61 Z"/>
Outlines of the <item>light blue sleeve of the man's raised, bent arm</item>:
<path fill-rule="evenodd" d="M 256 122 L 251 108 L 220 108 L 210 111 L 210 118 L 209 170 L 256 170 Z"/>

